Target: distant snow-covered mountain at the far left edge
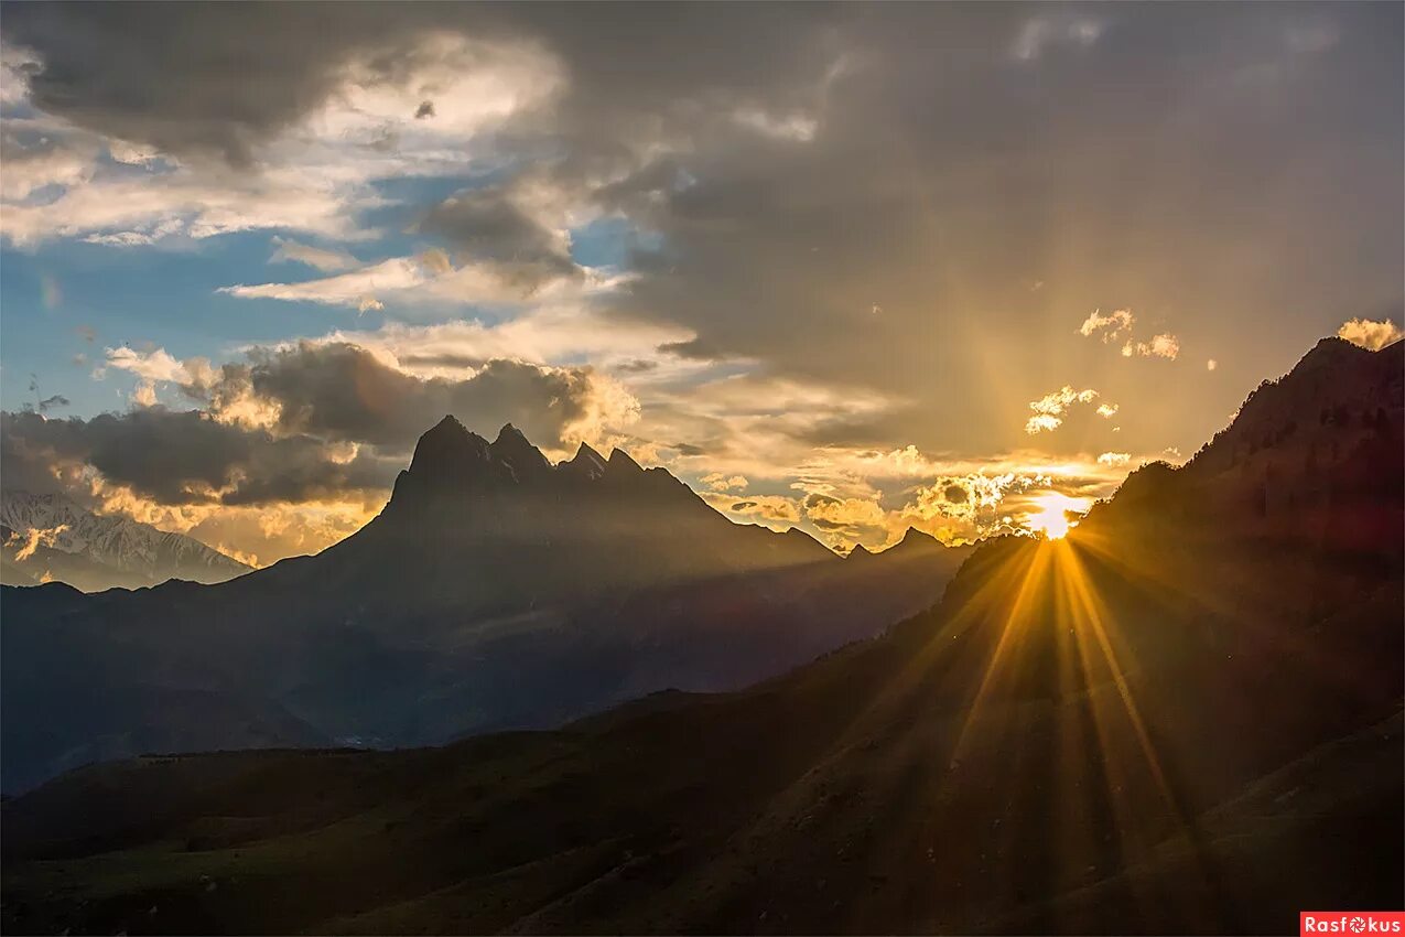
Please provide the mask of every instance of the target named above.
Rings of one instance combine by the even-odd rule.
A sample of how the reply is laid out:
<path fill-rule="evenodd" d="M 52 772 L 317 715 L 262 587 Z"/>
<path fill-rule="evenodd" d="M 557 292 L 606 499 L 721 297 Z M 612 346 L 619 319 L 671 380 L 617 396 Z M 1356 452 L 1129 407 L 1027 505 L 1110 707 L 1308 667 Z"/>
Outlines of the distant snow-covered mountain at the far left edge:
<path fill-rule="evenodd" d="M 65 582 L 83 591 L 140 589 L 167 579 L 219 583 L 249 566 L 191 537 L 87 511 L 62 494 L 0 494 L 6 584 Z"/>

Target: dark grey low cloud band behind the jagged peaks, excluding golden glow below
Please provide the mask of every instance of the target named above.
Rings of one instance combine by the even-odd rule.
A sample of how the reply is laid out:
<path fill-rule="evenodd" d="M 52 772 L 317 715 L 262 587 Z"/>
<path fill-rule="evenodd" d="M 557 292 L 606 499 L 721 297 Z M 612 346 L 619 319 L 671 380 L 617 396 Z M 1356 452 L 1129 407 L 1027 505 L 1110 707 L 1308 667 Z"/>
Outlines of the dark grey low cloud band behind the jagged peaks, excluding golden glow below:
<path fill-rule="evenodd" d="M 566 427 L 589 428 L 601 406 L 589 369 L 489 361 L 466 379 L 422 379 L 344 343 L 256 351 L 181 392 L 204 409 L 0 414 L 6 487 L 81 493 L 83 473 L 97 471 L 160 504 L 319 500 L 388 487 L 445 413 L 483 433 L 511 421 L 561 445 Z M 275 407 L 278 419 L 270 427 L 235 419 L 249 407 Z"/>

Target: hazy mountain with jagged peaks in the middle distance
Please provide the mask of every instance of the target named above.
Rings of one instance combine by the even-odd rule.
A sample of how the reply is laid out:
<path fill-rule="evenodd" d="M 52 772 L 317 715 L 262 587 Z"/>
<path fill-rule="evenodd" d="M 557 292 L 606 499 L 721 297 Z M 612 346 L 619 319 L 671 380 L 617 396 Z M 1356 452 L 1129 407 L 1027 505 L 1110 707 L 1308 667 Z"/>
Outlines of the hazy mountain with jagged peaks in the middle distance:
<path fill-rule="evenodd" d="M 222 714 L 201 747 L 409 746 L 733 690 L 929 607 L 967 552 L 860 568 L 620 450 L 552 465 L 511 424 L 489 443 L 445 417 L 381 514 L 316 556 L 215 586 L 7 589 L 4 791 L 183 750 L 201 700 Z M 133 702 L 153 694 L 197 708 Z"/>

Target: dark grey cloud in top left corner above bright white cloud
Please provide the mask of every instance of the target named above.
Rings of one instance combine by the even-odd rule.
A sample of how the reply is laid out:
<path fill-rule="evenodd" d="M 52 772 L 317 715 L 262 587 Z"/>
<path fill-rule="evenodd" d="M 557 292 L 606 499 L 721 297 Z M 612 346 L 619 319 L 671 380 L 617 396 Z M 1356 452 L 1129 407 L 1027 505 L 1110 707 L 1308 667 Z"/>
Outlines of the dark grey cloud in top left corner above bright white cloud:
<path fill-rule="evenodd" d="M 223 4 L 7 4 L 4 18 L 6 41 L 44 59 L 30 83 L 41 110 L 237 164 L 325 100 L 337 87 L 332 66 L 367 38 L 327 28 L 323 10 L 299 4 L 275 15 Z"/>

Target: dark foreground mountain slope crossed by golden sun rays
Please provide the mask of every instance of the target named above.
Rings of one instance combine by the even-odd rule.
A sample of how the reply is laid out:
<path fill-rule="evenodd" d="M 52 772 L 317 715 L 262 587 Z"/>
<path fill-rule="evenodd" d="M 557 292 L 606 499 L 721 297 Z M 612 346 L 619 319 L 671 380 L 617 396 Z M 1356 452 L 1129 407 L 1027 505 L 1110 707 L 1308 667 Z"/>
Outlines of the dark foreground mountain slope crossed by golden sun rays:
<path fill-rule="evenodd" d="M 1405 358 L 1329 354 L 1068 538 L 984 544 L 930 611 L 740 693 L 69 773 L 3 806 L 4 926 L 1281 933 L 1399 907 Z M 1314 393 L 1349 419 L 1304 448 Z"/>

